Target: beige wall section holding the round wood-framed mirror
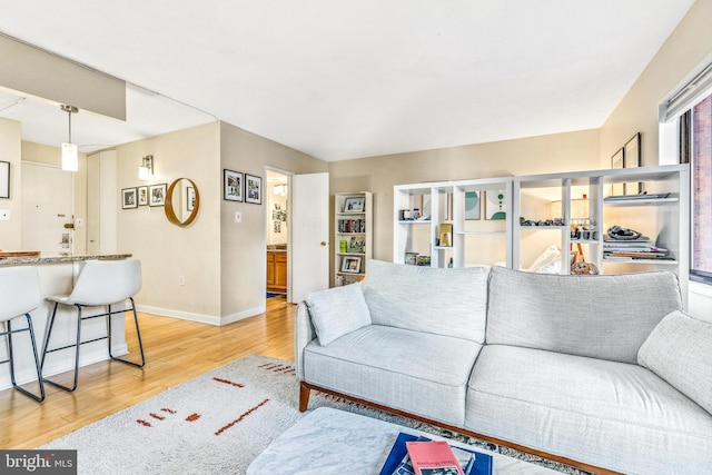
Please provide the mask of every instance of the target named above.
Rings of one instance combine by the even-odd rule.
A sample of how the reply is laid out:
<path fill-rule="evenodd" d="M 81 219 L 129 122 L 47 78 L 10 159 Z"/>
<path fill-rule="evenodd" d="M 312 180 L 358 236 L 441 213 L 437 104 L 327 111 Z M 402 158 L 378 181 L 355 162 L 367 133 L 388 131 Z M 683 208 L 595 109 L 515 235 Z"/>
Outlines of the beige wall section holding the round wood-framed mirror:
<path fill-rule="evenodd" d="M 140 259 L 144 287 L 137 303 L 147 311 L 219 323 L 220 316 L 220 147 L 218 122 L 117 147 L 117 188 L 190 178 L 200 192 L 197 219 L 171 225 L 162 207 L 120 209 L 118 250 Z M 138 179 L 141 157 L 154 156 L 150 180 Z M 180 285 L 180 276 L 185 285 Z"/>

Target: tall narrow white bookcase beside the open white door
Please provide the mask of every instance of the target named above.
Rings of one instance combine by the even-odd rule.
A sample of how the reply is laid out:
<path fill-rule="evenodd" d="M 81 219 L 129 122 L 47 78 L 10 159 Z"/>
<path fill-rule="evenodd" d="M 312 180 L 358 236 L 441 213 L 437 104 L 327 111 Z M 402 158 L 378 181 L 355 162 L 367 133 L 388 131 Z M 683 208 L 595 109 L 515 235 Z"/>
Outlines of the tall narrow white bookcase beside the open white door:
<path fill-rule="evenodd" d="M 373 256 L 373 195 L 334 195 L 334 285 L 359 281 Z"/>

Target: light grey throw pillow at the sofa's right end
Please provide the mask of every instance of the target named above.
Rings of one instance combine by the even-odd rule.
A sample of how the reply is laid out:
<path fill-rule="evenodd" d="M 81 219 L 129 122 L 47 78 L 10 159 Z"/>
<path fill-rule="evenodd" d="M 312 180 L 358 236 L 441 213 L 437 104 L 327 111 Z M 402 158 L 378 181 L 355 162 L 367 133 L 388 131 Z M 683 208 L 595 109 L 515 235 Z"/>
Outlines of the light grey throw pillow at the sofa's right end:
<path fill-rule="evenodd" d="M 637 363 L 712 414 L 712 325 L 670 313 L 641 346 Z"/>

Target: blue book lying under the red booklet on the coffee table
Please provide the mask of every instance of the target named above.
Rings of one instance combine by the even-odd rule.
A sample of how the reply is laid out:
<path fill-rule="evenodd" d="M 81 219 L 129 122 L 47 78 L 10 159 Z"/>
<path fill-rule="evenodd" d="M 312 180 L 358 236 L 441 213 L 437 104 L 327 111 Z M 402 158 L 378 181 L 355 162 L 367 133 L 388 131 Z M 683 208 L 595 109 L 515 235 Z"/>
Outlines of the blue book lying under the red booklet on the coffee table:
<path fill-rule="evenodd" d="M 432 442 L 427 437 L 399 433 L 390 447 L 390 452 L 384 463 L 379 475 L 415 475 L 411 456 L 406 447 L 409 442 Z M 476 452 L 459 446 L 449 445 L 449 449 L 462 467 L 464 475 L 492 475 L 493 459 L 488 454 Z M 459 472 L 453 472 L 458 474 Z"/>

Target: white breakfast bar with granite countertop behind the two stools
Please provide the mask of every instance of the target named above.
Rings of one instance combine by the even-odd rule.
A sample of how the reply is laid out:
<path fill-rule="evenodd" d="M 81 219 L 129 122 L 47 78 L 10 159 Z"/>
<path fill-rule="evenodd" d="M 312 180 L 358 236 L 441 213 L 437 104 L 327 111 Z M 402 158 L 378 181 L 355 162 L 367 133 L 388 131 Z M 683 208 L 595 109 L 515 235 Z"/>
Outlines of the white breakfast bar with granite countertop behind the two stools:
<path fill-rule="evenodd" d="M 47 325 L 52 314 L 53 304 L 47 297 L 55 295 L 68 295 L 73 288 L 77 276 L 83 263 L 95 259 L 127 259 L 130 254 L 105 254 L 105 255 L 65 255 L 65 256 L 18 256 L 0 258 L 1 266 L 31 266 L 37 268 L 40 281 L 41 304 L 30 313 L 34 335 L 37 338 L 38 353 L 41 354 L 44 347 Z M 85 315 L 100 314 L 105 311 L 101 307 L 87 308 Z M 123 314 L 115 315 L 113 323 L 118 328 L 123 326 Z M 120 325 L 120 326 L 119 326 Z M 106 318 L 95 318 L 82 324 L 82 340 L 105 336 L 107 334 Z M 77 335 L 77 311 L 72 307 L 60 306 L 57 309 L 57 323 L 52 330 L 52 342 L 72 342 Z M 34 374 L 34 362 L 30 348 L 29 335 L 18 334 L 13 336 L 16 349 L 14 364 L 19 384 L 24 384 L 37 379 Z M 26 340 L 27 339 L 27 340 Z M 111 342 L 115 355 L 126 355 L 128 353 L 123 333 L 115 331 Z M 7 347 L 0 347 L 0 360 L 7 357 Z M 105 340 L 93 342 L 82 345 L 80 353 L 80 366 L 90 365 L 109 358 L 109 350 Z M 72 369 L 75 366 L 75 352 L 67 349 L 57 352 L 48 356 L 43 368 L 43 376 L 50 376 Z M 9 372 L 0 372 L 0 390 L 11 387 Z"/>

